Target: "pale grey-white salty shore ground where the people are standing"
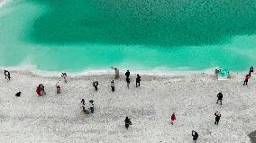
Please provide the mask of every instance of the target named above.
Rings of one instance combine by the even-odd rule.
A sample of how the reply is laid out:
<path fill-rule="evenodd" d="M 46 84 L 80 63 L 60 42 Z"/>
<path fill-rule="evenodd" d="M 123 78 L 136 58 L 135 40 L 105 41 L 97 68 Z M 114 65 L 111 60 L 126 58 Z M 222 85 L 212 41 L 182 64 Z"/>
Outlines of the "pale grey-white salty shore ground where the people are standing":
<path fill-rule="evenodd" d="M 0 73 L 4 73 L 0 70 Z M 12 71 L 12 80 L 0 76 L 0 142 L 81 142 L 81 143 L 187 143 L 191 131 L 199 133 L 199 143 L 250 142 L 248 134 L 256 127 L 256 80 L 252 76 L 243 86 L 243 74 L 233 74 L 229 81 L 198 73 L 190 76 L 142 76 L 142 86 L 130 89 L 124 78 L 114 76 L 77 76 L 64 84 L 60 77 L 36 76 Z M 92 87 L 99 81 L 99 90 Z M 61 81 L 62 94 L 55 84 Z M 37 96 L 36 85 L 44 84 L 47 94 Z M 21 97 L 15 97 L 18 91 Z M 223 105 L 216 104 L 216 94 L 224 93 Z M 81 112 L 80 100 L 95 100 L 96 113 Z M 222 113 L 218 126 L 216 111 Z M 177 113 L 174 125 L 169 115 Z M 133 126 L 123 127 L 125 116 Z"/>

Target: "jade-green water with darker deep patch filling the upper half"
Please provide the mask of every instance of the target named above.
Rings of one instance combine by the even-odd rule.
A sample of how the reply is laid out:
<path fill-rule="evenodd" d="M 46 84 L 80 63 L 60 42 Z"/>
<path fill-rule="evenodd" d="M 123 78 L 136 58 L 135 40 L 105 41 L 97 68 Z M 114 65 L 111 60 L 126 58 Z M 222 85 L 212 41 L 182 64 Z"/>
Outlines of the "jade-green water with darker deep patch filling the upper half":
<path fill-rule="evenodd" d="M 0 67 L 233 71 L 256 65 L 255 0 L 9 0 Z"/>

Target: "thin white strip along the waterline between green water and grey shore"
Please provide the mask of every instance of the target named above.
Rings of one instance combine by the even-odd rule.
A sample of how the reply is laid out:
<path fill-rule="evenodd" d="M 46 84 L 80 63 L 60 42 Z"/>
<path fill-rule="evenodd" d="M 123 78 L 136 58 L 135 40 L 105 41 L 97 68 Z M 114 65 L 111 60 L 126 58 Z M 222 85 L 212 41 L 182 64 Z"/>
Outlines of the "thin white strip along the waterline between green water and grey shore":
<path fill-rule="evenodd" d="M 81 76 L 107 76 L 114 75 L 114 70 L 111 68 L 105 69 L 87 69 L 81 72 L 69 72 L 69 71 L 47 71 L 47 70 L 39 70 L 37 67 L 32 65 L 26 66 L 18 66 L 18 67 L 0 67 L 0 70 L 9 70 L 16 73 L 23 74 L 32 74 L 36 76 L 49 76 L 49 77 L 59 77 L 62 72 L 66 72 L 68 76 L 71 77 L 81 77 Z M 180 68 L 183 69 L 183 68 Z M 186 68 L 188 69 L 188 68 Z M 126 69 L 120 69 L 120 75 L 124 75 Z M 142 70 L 130 70 L 131 75 L 135 76 L 136 74 L 144 75 L 144 76 L 192 76 L 192 75 L 214 75 L 215 67 L 208 68 L 206 70 L 197 70 L 197 71 L 189 71 L 188 70 L 171 70 L 171 69 L 142 69 Z M 247 72 L 230 72 L 232 76 L 234 75 L 245 75 Z"/>

